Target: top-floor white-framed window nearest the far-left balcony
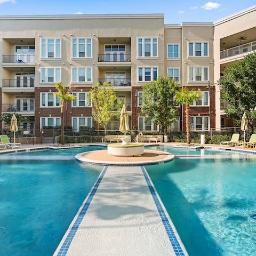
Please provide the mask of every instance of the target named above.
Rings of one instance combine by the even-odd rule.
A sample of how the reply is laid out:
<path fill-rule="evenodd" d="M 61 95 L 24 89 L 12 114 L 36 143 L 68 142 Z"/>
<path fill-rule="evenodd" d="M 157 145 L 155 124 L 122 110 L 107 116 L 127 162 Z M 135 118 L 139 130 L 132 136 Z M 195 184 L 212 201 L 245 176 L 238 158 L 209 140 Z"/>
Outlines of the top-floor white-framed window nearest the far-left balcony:
<path fill-rule="evenodd" d="M 41 58 L 61 58 L 61 39 L 41 39 Z"/>

